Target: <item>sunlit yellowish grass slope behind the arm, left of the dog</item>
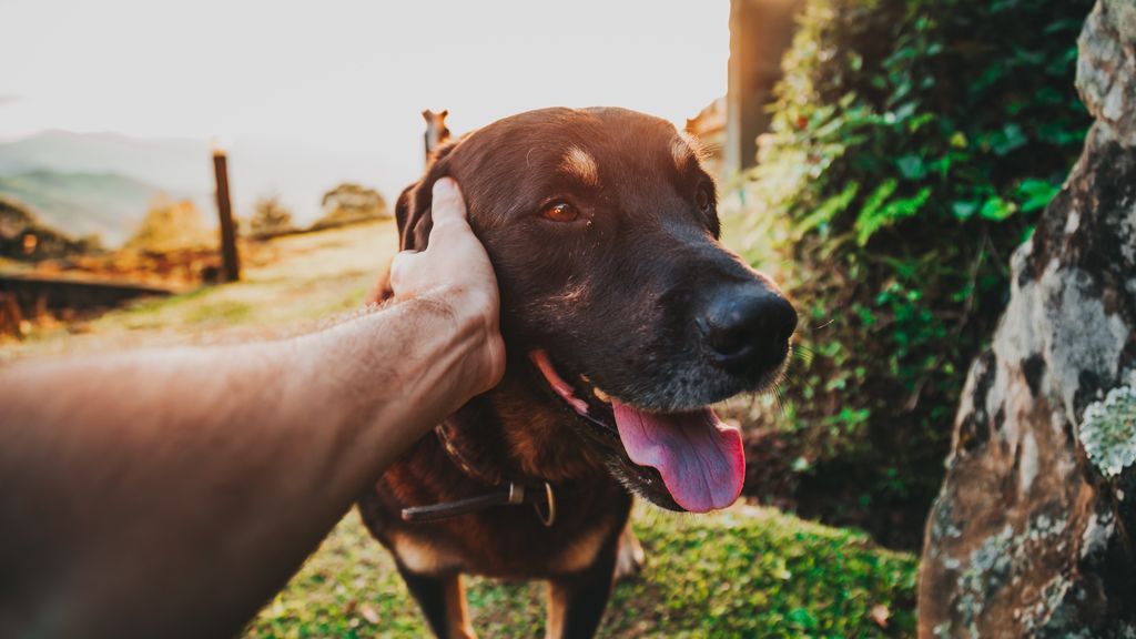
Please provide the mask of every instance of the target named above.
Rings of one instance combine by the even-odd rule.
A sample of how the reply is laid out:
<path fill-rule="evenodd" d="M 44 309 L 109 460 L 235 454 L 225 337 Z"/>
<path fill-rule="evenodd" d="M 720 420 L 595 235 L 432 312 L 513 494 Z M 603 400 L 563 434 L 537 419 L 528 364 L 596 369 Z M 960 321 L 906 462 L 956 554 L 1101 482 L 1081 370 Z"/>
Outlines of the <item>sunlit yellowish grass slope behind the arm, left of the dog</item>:
<path fill-rule="evenodd" d="M 244 244 L 241 282 L 141 300 L 78 325 L 37 326 L 24 341 L 0 342 L 0 362 L 310 330 L 358 308 L 396 247 L 392 222 Z"/>

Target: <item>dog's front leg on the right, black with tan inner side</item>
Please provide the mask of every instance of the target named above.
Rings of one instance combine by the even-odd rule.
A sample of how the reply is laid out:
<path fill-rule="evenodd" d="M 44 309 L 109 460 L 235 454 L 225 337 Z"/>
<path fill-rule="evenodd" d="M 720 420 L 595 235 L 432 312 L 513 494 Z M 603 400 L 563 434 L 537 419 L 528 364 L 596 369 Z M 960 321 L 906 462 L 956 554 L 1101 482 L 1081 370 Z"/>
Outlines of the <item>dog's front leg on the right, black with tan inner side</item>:
<path fill-rule="evenodd" d="M 618 543 L 609 542 L 583 573 L 549 582 L 545 639 L 591 639 L 603 620 L 616 571 Z"/>

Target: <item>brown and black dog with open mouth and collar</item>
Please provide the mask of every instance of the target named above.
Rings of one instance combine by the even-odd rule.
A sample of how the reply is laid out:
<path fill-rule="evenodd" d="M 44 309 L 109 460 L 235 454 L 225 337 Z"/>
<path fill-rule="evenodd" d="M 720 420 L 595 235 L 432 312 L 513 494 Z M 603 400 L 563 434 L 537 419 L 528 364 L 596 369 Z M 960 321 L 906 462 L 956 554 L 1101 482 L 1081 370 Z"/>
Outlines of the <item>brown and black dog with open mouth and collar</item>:
<path fill-rule="evenodd" d="M 737 499 L 741 434 L 708 405 L 775 383 L 796 313 L 719 243 L 715 182 L 663 119 L 550 108 L 448 143 L 399 197 L 403 250 L 426 246 L 443 176 L 498 276 L 506 374 L 359 509 L 438 637 L 474 636 L 462 573 L 546 580 L 548 637 L 592 637 L 620 555 L 641 558 L 632 493 Z"/>

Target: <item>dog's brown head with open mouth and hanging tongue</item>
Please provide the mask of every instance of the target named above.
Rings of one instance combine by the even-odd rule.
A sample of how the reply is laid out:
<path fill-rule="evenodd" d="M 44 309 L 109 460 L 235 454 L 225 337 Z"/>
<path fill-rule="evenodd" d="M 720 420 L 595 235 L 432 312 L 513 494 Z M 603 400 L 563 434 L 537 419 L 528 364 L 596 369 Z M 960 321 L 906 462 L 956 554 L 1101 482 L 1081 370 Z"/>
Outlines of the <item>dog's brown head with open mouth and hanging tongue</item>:
<path fill-rule="evenodd" d="M 719 243 L 715 183 L 687 141 L 613 108 L 499 121 L 443 147 L 399 198 L 403 249 L 425 247 L 443 176 L 496 272 L 507 379 L 574 413 L 583 446 L 655 504 L 732 504 L 741 437 L 707 406 L 776 380 L 796 314 Z"/>

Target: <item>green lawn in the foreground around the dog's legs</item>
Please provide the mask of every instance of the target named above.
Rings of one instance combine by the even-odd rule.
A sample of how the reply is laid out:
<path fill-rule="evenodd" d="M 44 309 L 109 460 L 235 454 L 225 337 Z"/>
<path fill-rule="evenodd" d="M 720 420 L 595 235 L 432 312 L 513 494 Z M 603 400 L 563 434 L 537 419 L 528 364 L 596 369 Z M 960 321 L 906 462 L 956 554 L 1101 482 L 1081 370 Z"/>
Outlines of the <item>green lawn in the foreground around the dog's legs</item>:
<path fill-rule="evenodd" d="M 742 507 L 682 516 L 642 507 L 644 573 L 616 586 L 602 637 L 913 637 L 916 559 L 838 531 Z M 541 583 L 474 579 L 482 637 L 541 637 Z M 877 608 L 878 607 L 878 608 Z M 886 611 L 887 630 L 871 614 Z M 352 513 L 247 638 L 425 637 L 414 601 Z"/>

